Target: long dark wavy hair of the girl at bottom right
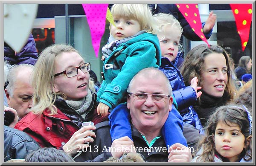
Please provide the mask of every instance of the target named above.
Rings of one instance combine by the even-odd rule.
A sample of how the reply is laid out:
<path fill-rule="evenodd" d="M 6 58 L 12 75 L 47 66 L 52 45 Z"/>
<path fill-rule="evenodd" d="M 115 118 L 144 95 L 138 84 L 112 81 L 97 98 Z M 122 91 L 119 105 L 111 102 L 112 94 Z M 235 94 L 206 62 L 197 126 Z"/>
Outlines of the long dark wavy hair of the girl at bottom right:
<path fill-rule="evenodd" d="M 247 138 L 252 135 L 252 122 L 249 120 L 251 117 L 248 116 L 247 111 L 246 107 L 236 104 L 218 107 L 215 113 L 210 116 L 205 130 L 205 136 L 198 144 L 198 150 L 202 148 L 203 152 L 196 162 L 214 162 L 215 154 L 218 154 L 215 149 L 214 135 L 219 122 L 223 122 L 228 126 L 237 124 L 245 137 L 244 145 L 247 145 Z M 240 158 L 244 158 L 246 161 L 252 160 L 251 141 L 252 139 L 250 139 L 249 145 L 247 145 L 239 155 Z"/>

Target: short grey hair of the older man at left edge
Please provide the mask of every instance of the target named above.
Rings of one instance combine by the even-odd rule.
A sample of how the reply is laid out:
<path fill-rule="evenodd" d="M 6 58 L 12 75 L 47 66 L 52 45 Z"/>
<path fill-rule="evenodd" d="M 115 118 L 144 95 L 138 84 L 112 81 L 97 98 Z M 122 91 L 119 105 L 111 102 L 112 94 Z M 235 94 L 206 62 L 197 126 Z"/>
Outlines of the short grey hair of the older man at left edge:
<path fill-rule="evenodd" d="M 24 70 L 24 68 L 30 68 L 31 70 L 34 69 L 33 65 L 29 65 L 29 64 L 20 64 L 20 65 L 13 65 L 12 68 L 9 70 L 8 72 L 8 81 L 9 84 L 6 87 L 7 93 L 9 93 L 9 95 L 11 97 L 13 97 L 13 91 L 15 89 L 15 82 L 17 79 L 17 73 L 18 72 L 22 72 Z"/>

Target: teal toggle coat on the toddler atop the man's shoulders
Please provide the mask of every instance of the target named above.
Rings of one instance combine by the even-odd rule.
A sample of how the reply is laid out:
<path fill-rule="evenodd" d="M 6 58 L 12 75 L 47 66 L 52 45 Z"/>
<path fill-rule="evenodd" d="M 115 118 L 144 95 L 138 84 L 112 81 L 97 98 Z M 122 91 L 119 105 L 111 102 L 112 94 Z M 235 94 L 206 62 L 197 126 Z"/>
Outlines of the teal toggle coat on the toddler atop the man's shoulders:
<path fill-rule="evenodd" d="M 113 68 L 106 69 L 113 65 Z M 97 93 L 97 101 L 110 109 L 125 102 L 131 79 L 142 69 L 161 65 L 161 51 L 156 35 L 140 34 L 120 44 L 105 60 L 103 80 Z"/>

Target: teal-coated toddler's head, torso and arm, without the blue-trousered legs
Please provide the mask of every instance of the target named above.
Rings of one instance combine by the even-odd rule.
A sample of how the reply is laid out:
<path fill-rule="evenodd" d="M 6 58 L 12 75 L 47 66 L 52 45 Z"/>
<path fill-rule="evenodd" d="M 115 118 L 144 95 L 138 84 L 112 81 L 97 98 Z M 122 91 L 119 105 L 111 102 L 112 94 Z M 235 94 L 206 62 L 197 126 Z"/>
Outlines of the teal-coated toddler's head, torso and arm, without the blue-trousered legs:
<path fill-rule="evenodd" d="M 97 93 L 98 115 L 126 101 L 131 79 L 142 69 L 161 63 L 157 29 L 147 4 L 114 4 L 111 36 L 102 48 L 103 82 Z"/>

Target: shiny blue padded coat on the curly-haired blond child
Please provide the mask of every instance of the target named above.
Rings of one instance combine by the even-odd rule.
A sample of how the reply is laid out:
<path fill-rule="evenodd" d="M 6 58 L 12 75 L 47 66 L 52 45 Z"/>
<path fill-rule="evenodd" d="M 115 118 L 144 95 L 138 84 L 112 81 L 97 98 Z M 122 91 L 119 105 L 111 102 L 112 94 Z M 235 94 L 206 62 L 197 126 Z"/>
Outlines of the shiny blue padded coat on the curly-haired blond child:
<path fill-rule="evenodd" d="M 172 86 L 173 95 L 178 104 L 178 111 L 183 118 L 183 121 L 187 124 L 191 124 L 195 127 L 196 121 L 199 121 L 196 112 L 192 105 L 197 101 L 195 90 L 185 85 L 183 76 L 176 67 L 180 53 L 173 62 L 170 62 L 166 57 L 162 57 L 160 70 L 169 79 Z M 195 117 L 194 117 L 195 116 Z"/>

